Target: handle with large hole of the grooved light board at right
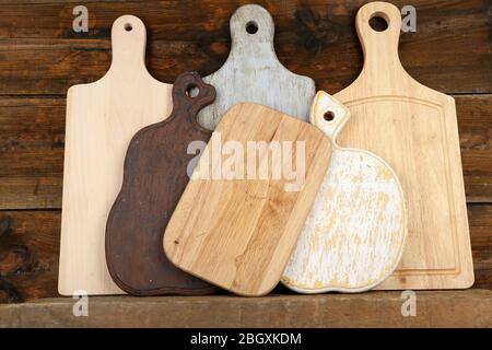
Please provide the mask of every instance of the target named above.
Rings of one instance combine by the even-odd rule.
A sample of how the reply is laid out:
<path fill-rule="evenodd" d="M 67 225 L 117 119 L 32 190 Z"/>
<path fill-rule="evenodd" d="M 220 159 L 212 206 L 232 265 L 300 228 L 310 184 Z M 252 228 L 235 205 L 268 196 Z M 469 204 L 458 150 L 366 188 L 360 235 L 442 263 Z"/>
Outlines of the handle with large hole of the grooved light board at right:
<path fill-rule="evenodd" d="M 378 32 L 371 27 L 373 18 L 382 18 L 387 28 Z M 398 57 L 398 40 L 401 30 L 401 13 L 388 2 L 370 2 L 359 9 L 355 26 L 364 51 L 363 74 L 368 79 L 383 79 L 395 70 L 403 70 Z M 385 72 L 388 72 L 386 74 Z"/>

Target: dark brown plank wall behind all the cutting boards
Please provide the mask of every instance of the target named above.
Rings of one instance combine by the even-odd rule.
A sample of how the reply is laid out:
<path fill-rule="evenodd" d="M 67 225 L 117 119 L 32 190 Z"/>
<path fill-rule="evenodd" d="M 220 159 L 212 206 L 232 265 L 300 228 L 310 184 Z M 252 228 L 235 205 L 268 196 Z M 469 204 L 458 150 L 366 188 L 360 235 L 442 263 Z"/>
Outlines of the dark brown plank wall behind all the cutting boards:
<path fill-rule="evenodd" d="M 421 83 L 455 96 L 475 288 L 492 289 L 491 2 L 393 1 L 417 8 L 402 34 L 403 66 Z M 110 63 L 110 26 L 134 14 L 148 27 L 148 66 L 173 82 L 225 61 L 229 19 L 247 1 L 0 0 L 0 303 L 57 296 L 65 106 L 70 85 L 101 78 Z M 364 1 L 258 1 L 276 21 L 276 49 L 291 71 L 336 93 L 362 68 L 354 28 Z M 89 9 L 89 33 L 72 10 Z"/>

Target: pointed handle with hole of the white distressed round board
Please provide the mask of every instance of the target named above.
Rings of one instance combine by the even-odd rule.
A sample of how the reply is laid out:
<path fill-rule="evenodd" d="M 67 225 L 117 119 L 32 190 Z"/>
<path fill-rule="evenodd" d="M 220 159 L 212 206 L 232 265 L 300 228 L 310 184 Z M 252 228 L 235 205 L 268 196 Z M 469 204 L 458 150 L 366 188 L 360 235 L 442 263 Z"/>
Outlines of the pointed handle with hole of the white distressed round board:
<path fill-rule="evenodd" d="M 350 110 L 324 91 L 318 91 L 311 107 L 309 121 L 321 129 L 333 143 L 350 119 Z"/>

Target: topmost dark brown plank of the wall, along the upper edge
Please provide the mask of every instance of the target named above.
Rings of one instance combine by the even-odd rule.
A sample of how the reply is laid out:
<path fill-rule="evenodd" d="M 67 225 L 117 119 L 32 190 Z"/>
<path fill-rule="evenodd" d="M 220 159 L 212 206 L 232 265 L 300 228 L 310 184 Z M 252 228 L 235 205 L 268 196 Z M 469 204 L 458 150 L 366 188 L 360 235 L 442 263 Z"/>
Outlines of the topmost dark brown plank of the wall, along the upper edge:
<path fill-rule="evenodd" d="M 250 3 L 248 0 L 1 0 L 2 13 L 0 15 L 1 38 L 90 38 L 106 36 L 113 22 L 121 14 L 133 14 L 147 22 L 152 31 L 154 39 L 191 39 L 197 30 L 211 30 L 215 26 L 224 26 L 222 34 L 229 35 L 229 19 L 242 4 Z M 324 14 L 331 22 L 335 19 L 347 20 L 343 24 L 353 26 L 353 15 L 366 1 L 355 0 L 284 0 L 278 1 L 258 0 L 256 3 L 265 7 L 274 18 L 278 32 L 292 28 L 295 14 L 311 11 L 313 15 Z M 393 0 L 398 8 L 408 4 L 405 0 Z M 30 5 L 26 5 L 28 3 Z M 89 10 L 89 33 L 79 34 L 72 30 L 75 15 L 74 7 L 85 5 Z M 464 25 L 464 19 L 469 20 L 473 15 L 476 21 L 467 22 L 468 25 L 483 25 L 489 8 L 484 0 L 446 1 L 446 0 L 414 0 L 411 3 L 418 11 L 418 24 L 422 24 L 421 31 L 426 34 L 438 33 L 446 26 L 454 24 Z M 30 19 L 30 21 L 13 21 L 15 19 Z M 187 21 L 183 21 L 186 18 Z M 306 19 L 306 16 L 304 18 Z M 442 19 L 446 19 L 445 23 Z M 326 30 L 329 24 L 319 22 Z M 478 22 L 480 20 L 481 22 Z M 460 23 L 461 22 L 461 23 Z M 304 22 L 303 22 L 304 23 Z M 178 26 L 176 24 L 179 24 Z M 304 23 L 305 24 L 305 23 Z M 432 24 L 432 25 L 430 25 Z M 167 32 L 167 33 L 166 33 Z M 320 36 L 327 34 L 314 33 Z M 291 37 L 291 36 L 289 36 Z M 315 39 L 318 37 L 315 37 Z M 226 38 L 225 38 L 226 39 Z"/>

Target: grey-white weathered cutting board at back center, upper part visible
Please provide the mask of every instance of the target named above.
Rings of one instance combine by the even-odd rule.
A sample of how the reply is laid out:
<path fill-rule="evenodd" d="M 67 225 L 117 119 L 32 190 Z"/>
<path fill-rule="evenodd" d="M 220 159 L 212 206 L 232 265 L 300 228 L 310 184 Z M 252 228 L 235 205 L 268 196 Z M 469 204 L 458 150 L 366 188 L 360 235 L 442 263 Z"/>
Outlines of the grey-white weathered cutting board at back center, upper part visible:
<path fill-rule="evenodd" d="M 255 28 L 256 33 L 250 34 Z M 203 79 L 215 86 L 216 100 L 198 115 L 201 126 L 215 129 L 227 109 L 242 102 L 261 104 L 307 121 L 315 83 L 279 62 L 273 33 L 273 20 L 262 7 L 246 4 L 236 10 L 231 18 L 231 54 L 224 66 Z"/>

